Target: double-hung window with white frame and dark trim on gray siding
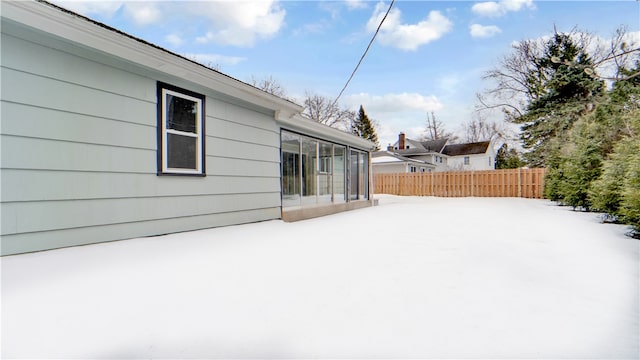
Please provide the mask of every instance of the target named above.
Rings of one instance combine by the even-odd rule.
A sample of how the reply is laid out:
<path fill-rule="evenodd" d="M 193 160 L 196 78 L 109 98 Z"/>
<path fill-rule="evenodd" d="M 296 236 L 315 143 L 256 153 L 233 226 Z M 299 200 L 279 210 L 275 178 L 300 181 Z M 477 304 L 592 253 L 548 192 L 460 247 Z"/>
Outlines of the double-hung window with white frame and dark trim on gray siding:
<path fill-rule="evenodd" d="M 158 83 L 158 174 L 205 174 L 204 95 Z"/>

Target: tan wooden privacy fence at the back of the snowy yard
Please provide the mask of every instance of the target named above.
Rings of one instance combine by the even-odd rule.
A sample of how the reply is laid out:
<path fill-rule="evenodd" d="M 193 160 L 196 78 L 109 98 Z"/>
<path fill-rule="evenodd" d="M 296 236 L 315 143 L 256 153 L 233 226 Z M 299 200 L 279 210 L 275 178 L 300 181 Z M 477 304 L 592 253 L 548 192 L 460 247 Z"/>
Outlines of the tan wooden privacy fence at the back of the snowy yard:
<path fill-rule="evenodd" d="M 543 198 L 546 169 L 374 174 L 376 194 Z"/>

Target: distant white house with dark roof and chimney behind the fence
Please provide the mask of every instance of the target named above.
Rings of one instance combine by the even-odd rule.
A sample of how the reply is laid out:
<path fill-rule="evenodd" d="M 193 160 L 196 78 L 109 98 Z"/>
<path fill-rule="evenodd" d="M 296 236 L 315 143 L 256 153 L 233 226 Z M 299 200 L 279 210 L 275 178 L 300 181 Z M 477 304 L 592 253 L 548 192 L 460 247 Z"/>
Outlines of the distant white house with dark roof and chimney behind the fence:
<path fill-rule="evenodd" d="M 398 140 L 388 146 L 387 152 L 433 164 L 434 171 L 495 169 L 496 154 L 490 141 L 467 144 L 449 144 L 448 142 L 448 139 L 412 140 L 401 132 Z M 379 171 L 379 165 L 374 164 L 373 168 L 374 172 Z"/>

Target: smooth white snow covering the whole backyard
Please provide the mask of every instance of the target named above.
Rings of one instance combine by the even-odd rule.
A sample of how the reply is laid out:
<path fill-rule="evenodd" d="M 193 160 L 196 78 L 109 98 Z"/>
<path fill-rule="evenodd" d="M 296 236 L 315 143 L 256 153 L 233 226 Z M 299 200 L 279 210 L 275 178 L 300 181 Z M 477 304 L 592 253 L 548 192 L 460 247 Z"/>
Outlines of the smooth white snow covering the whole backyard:
<path fill-rule="evenodd" d="M 8 256 L 3 358 L 634 358 L 639 244 L 544 200 L 380 206 Z"/>

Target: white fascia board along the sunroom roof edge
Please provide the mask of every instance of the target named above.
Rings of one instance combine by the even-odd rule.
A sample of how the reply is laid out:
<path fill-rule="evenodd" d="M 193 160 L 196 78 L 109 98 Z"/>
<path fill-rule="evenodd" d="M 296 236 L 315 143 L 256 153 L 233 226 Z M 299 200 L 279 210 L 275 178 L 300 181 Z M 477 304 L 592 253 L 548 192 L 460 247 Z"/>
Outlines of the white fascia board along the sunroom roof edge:
<path fill-rule="evenodd" d="M 319 139 L 349 145 L 361 150 L 373 151 L 376 145 L 361 137 L 309 120 L 304 116 L 291 112 L 276 112 L 276 121 L 280 127 L 297 131 Z"/>

